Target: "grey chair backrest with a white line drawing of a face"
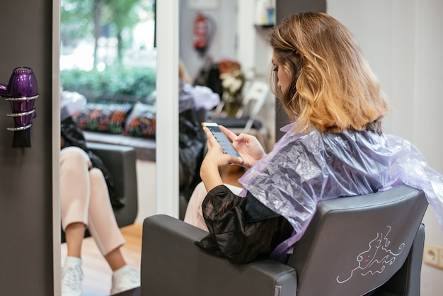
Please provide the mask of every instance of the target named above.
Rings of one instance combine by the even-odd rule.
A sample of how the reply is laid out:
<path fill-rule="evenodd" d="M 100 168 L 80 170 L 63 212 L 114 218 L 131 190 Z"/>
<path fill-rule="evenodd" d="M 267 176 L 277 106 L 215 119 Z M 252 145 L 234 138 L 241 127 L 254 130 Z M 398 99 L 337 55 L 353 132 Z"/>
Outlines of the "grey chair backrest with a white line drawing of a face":
<path fill-rule="evenodd" d="M 386 283 L 405 263 L 426 208 L 424 193 L 405 185 L 318 203 L 288 262 L 297 295 L 364 295 Z"/>

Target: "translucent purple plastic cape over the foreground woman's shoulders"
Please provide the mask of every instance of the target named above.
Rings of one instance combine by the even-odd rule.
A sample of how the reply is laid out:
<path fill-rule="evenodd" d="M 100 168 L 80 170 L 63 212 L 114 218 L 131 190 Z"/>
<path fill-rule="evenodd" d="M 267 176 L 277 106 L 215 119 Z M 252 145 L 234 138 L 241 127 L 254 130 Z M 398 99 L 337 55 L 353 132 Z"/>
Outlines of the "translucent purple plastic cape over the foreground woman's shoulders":
<path fill-rule="evenodd" d="M 291 253 L 319 200 L 374 193 L 405 183 L 425 192 L 443 228 L 443 176 L 401 137 L 376 132 L 294 134 L 294 123 L 272 151 L 238 180 L 261 203 L 282 215 L 294 235 L 272 252 Z"/>

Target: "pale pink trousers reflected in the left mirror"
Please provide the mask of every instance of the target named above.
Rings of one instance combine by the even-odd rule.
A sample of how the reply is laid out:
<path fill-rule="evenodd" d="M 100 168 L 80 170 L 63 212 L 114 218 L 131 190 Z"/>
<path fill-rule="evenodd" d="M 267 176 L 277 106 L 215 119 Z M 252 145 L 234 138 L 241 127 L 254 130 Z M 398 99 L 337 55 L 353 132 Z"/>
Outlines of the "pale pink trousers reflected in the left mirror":
<path fill-rule="evenodd" d="M 91 160 L 79 147 L 60 152 L 60 207 L 62 228 L 75 222 L 88 227 L 105 256 L 125 244 L 110 204 L 108 186 L 99 169 L 89 169 Z"/>

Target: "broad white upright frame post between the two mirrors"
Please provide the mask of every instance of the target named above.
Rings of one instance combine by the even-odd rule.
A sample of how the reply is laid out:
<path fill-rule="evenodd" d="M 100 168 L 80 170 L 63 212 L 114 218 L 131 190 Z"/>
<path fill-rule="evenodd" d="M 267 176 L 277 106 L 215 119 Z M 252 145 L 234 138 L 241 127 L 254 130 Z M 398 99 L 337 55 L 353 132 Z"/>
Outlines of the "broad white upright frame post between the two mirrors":
<path fill-rule="evenodd" d="M 180 1 L 156 1 L 156 213 L 178 217 L 178 47 Z M 159 67 L 160 65 L 160 67 Z M 159 99 L 161 98 L 161 99 Z M 171 112 L 175 110 L 175 112 Z M 176 173 L 171 173 L 175 171 Z"/>

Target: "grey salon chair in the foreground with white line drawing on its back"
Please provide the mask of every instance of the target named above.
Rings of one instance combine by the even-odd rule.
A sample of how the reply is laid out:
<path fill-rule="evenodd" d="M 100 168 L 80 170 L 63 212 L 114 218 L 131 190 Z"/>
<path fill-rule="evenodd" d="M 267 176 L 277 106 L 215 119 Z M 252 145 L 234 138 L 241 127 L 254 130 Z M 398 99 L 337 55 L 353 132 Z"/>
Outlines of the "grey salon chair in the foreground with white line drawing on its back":
<path fill-rule="evenodd" d="M 147 217 L 140 293 L 420 295 L 426 209 L 424 193 L 405 185 L 321 201 L 287 264 L 229 263 L 195 246 L 207 232 L 167 215 Z"/>

